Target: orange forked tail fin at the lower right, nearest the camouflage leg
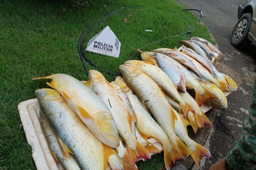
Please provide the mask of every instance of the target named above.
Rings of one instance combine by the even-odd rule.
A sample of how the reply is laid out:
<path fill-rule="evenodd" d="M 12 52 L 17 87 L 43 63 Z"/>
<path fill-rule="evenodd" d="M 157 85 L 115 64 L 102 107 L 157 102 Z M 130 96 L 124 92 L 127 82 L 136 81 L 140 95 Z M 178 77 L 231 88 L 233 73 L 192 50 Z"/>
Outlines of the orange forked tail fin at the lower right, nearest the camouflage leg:
<path fill-rule="evenodd" d="M 195 150 L 190 150 L 190 156 L 194 159 L 195 163 L 199 168 L 201 168 L 201 159 L 206 156 L 207 158 L 211 157 L 209 150 L 200 144 L 196 143 Z"/>

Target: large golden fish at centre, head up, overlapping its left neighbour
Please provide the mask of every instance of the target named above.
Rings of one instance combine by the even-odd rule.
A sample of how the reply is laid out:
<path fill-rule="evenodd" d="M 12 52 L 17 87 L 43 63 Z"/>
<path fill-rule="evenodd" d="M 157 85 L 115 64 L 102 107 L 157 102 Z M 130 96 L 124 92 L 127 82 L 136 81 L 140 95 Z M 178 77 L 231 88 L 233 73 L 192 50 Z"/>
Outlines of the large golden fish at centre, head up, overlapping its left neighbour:
<path fill-rule="evenodd" d="M 120 65 L 119 70 L 127 85 L 148 108 L 154 119 L 168 135 L 172 143 L 172 153 L 175 154 L 174 158 L 188 156 L 188 149 L 174 133 L 174 122 L 177 119 L 174 109 L 169 105 L 163 91 L 156 82 L 135 65 Z"/>

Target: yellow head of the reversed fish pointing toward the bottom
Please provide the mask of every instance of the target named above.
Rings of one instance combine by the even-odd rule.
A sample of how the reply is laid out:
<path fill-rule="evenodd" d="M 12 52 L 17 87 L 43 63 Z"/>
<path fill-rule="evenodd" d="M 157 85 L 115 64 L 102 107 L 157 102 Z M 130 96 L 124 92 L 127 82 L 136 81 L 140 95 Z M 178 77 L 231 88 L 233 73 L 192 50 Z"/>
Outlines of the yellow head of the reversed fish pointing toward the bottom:
<path fill-rule="evenodd" d="M 95 119 L 94 131 L 102 143 L 113 148 L 119 146 L 119 133 L 113 116 L 109 112 L 98 114 Z"/>

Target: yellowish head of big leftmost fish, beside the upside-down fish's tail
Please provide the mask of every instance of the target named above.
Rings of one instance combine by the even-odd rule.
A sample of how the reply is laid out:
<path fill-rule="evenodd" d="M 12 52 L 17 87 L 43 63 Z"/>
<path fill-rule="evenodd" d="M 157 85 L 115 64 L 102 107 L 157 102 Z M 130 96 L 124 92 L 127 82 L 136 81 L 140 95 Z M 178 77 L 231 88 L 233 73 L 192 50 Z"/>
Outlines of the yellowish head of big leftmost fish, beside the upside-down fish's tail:
<path fill-rule="evenodd" d="M 51 88 L 41 88 L 35 90 L 35 96 L 38 101 L 47 101 L 47 100 L 63 100 L 64 98 L 61 94 L 58 93 L 55 89 Z"/>

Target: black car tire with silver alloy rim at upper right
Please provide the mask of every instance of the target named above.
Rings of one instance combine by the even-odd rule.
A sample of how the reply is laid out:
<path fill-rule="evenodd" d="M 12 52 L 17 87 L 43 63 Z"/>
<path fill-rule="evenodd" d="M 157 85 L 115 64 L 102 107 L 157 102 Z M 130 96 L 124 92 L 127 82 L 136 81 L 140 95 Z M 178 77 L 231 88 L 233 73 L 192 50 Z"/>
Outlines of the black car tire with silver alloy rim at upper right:
<path fill-rule="evenodd" d="M 231 34 L 231 44 L 235 48 L 244 48 L 251 42 L 248 40 L 248 33 L 250 30 L 250 25 L 252 23 L 252 14 L 246 13 L 241 16 L 241 18 L 236 23 L 232 34 Z"/>

